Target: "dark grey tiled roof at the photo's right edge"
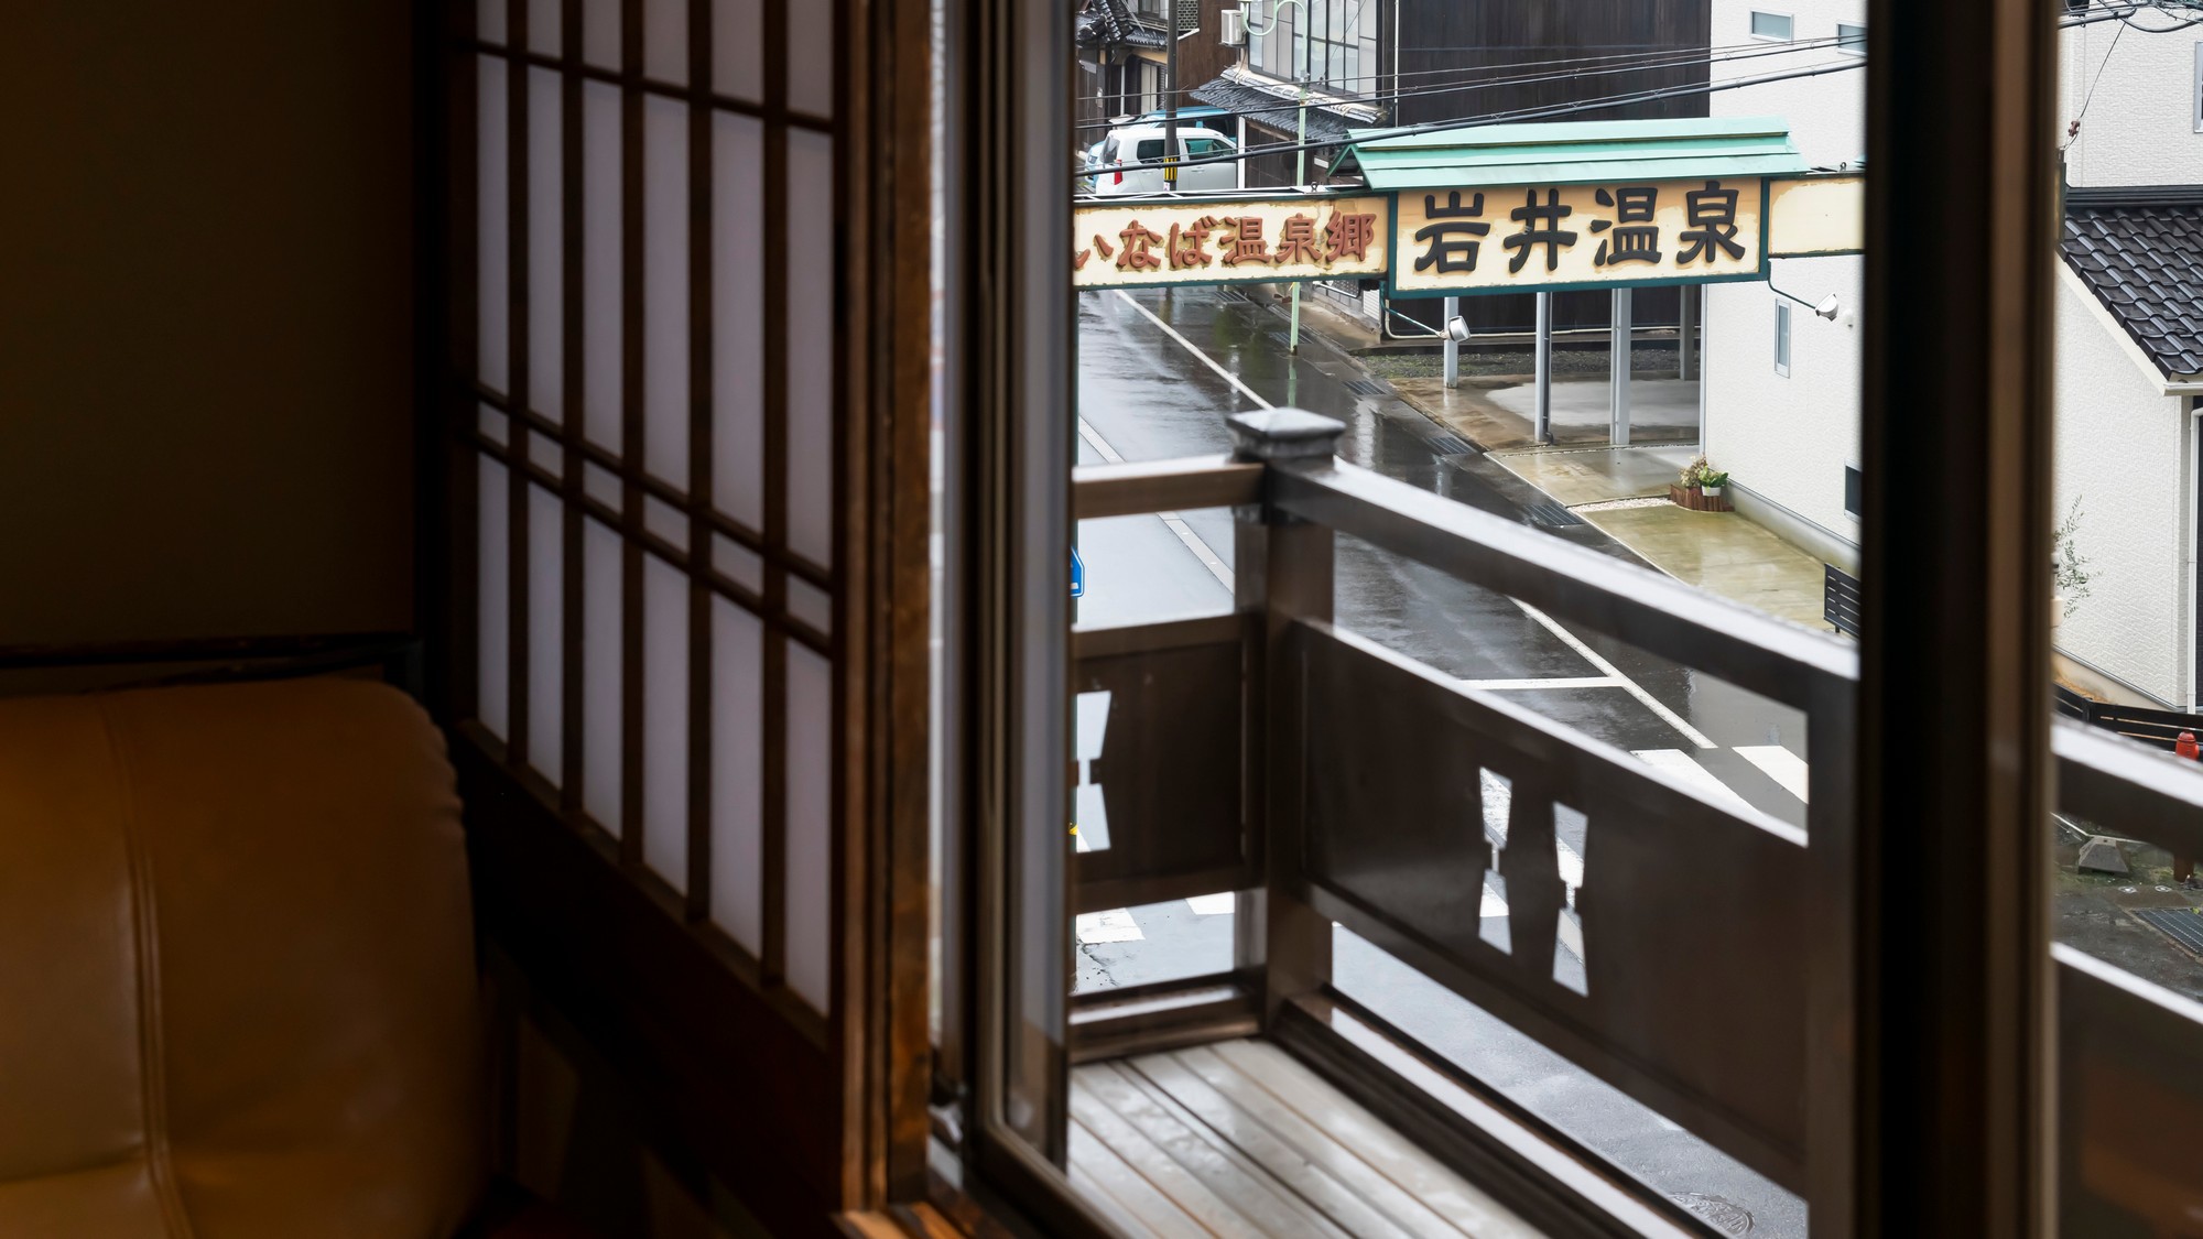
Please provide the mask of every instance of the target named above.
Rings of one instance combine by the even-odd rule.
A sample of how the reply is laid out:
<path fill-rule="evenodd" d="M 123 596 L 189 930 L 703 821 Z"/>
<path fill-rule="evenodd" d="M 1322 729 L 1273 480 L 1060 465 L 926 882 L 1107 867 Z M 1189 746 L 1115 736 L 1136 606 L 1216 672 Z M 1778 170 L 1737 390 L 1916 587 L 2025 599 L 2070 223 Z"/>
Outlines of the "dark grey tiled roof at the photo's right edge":
<path fill-rule="evenodd" d="M 2062 249 L 2168 377 L 2203 375 L 2203 190 L 2071 190 Z"/>

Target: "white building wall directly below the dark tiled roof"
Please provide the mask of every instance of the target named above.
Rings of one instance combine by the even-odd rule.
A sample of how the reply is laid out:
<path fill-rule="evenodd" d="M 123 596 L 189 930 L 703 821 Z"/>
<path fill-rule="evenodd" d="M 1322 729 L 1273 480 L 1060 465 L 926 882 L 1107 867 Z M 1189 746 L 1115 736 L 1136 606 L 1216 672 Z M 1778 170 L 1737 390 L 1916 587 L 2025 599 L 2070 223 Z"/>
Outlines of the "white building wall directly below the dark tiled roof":
<path fill-rule="evenodd" d="M 2075 545 L 2095 580 L 2055 644 L 2166 705 L 2188 708 L 2183 401 L 2157 395 L 2084 295 L 2058 282 L 2055 514 L 2064 520 L 2080 498 Z"/>

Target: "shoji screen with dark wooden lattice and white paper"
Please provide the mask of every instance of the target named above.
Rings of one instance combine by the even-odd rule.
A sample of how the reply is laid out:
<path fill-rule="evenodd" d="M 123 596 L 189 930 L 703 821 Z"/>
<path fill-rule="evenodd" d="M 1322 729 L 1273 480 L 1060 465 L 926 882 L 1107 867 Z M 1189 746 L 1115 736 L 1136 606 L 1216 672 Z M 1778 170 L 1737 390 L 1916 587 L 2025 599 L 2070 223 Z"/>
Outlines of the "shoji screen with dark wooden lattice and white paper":
<path fill-rule="evenodd" d="M 454 40 L 463 736 L 822 1049 L 844 22 L 837 0 L 480 0 Z"/>

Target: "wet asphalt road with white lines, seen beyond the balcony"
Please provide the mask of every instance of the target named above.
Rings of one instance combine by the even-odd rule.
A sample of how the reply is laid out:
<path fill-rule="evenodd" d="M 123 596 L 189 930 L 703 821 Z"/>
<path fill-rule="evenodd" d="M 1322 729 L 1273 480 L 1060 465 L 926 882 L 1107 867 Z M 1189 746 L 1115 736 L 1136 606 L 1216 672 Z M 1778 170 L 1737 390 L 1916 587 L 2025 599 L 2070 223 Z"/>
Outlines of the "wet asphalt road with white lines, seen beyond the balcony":
<path fill-rule="evenodd" d="M 1284 331 L 1284 315 L 1262 289 L 1247 295 L 1238 289 L 1082 293 L 1079 463 L 1227 452 L 1225 419 L 1269 401 L 1342 419 L 1339 454 L 1390 478 L 1513 516 L 1544 498 L 1392 397 L 1383 384 L 1370 384 L 1350 355 L 1309 335 L 1302 335 L 1298 357 L 1287 353 Z M 1079 602 L 1082 624 L 1229 611 L 1229 511 L 1176 516 L 1179 525 L 1157 516 L 1082 522 L 1088 593 Z M 1551 534 L 1630 558 L 1591 525 Z M 1804 802 L 1736 752 L 1758 745 L 1762 754 L 1780 747 L 1802 758 L 1804 719 L 1795 710 L 1610 637 L 1555 633 L 1505 595 L 1350 538 L 1339 540 L 1335 582 L 1335 615 L 1344 628 L 1445 675 L 1469 681 L 1626 679 L 1635 688 L 1511 690 L 1507 699 L 1621 750 L 1665 752 L 1668 761 L 1696 765 L 1754 807 L 1804 822 Z M 1597 666 L 1586 650 L 1606 666 Z M 1562 842 L 1577 853 L 1586 849 L 1582 831 L 1575 838 L 1564 833 Z M 1588 877 L 1597 880 L 1595 840 Z M 1478 893 L 1463 891 L 1463 897 Z M 1130 922 L 1139 933 L 1132 941 L 1079 946 L 1082 988 L 1229 968 L 1229 913 L 1203 913 L 1179 899 L 1132 908 Z M 1586 950 L 1597 950 L 1595 937 Z M 1795 1197 L 1359 939 L 1342 939 L 1335 968 L 1342 990 L 1659 1190 L 1749 1208 L 1754 1235 L 1804 1235 L 1804 1206 Z"/>

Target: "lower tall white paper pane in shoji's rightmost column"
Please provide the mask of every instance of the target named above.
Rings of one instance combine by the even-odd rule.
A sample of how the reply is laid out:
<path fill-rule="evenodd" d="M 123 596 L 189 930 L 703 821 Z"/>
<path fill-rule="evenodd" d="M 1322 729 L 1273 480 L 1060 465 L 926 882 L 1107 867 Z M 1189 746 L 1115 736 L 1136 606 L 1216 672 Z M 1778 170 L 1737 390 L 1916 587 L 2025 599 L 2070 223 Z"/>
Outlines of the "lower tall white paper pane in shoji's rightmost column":
<path fill-rule="evenodd" d="M 789 642 L 789 988 L 833 1012 L 833 664 Z"/>

